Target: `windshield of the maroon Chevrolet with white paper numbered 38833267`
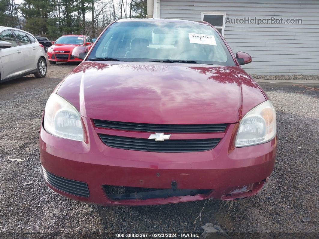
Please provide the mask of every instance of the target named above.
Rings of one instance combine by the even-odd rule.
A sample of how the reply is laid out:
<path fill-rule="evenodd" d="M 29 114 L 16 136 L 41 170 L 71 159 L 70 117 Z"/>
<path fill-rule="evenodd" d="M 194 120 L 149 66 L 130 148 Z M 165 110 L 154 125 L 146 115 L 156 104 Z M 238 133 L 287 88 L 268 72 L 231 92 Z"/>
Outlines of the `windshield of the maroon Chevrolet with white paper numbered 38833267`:
<path fill-rule="evenodd" d="M 165 59 L 235 65 L 214 28 L 176 22 L 115 22 L 96 42 L 88 59 L 104 57 L 136 62 Z"/>

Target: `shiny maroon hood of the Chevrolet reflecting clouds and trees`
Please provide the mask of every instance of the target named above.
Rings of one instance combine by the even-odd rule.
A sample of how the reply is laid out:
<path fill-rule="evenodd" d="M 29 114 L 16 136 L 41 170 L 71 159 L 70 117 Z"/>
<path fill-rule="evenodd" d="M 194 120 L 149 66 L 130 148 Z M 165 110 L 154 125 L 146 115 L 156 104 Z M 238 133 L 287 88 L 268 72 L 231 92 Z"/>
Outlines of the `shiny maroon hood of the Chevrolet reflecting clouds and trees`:
<path fill-rule="evenodd" d="M 84 117 L 164 124 L 235 123 L 265 101 L 240 68 L 83 62 L 57 87 Z"/>

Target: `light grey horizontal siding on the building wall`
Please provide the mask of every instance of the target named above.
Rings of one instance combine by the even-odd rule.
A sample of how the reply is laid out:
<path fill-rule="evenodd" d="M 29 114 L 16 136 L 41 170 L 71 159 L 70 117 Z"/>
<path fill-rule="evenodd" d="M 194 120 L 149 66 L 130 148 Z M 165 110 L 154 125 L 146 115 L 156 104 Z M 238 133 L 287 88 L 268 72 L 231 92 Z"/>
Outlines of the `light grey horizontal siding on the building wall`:
<path fill-rule="evenodd" d="M 202 12 L 226 18 L 302 19 L 302 24 L 227 24 L 224 37 L 234 53 L 249 53 L 248 73 L 319 74 L 318 0 L 160 0 L 160 18 L 201 20 Z"/>

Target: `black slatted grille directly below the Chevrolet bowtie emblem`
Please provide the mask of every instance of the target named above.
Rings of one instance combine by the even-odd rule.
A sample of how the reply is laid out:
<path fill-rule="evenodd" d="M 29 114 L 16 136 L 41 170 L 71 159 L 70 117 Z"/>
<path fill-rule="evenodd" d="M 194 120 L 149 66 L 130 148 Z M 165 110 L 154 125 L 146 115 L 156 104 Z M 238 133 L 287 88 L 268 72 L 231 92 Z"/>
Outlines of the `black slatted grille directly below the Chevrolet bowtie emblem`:
<path fill-rule="evenodd" d="M 101 140 L 107 146 L 119 149 L 130 149 L 150 152 L 199 152 L 213 149 L 220 138 L 209 139 L 167 139 L 155 141 L 146 138 L 131 138 L 99 134 Z"/>

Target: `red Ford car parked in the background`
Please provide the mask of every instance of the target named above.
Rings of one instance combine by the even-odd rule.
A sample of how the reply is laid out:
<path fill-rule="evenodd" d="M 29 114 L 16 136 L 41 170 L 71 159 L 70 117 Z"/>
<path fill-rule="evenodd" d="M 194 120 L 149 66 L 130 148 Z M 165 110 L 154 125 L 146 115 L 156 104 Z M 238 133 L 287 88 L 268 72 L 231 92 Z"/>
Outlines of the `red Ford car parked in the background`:
<path fill-rule="evenodd" d="M 52 41 L 53 45 L 48 48 L 48 61 L 50 64 L 57 62 L 81 62 L 82 59 L 73 57 L 72 50 L 78 46 L 86 46 L 89 50 L 93 41 L 89 36 L 85 35 L 63 35 L 56 41 Z"/>

